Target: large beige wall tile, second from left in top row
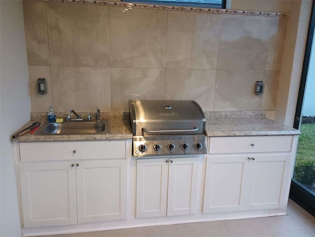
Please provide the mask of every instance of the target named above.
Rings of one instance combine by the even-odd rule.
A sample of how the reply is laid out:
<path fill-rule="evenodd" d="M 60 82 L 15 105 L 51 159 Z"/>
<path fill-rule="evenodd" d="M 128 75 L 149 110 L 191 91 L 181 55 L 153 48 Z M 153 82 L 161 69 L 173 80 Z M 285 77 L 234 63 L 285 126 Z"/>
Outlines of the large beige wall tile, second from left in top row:
<path fill-rule="evenodd" d="M 109 7 L 45 4 L 51 66 L 110 66 Z"/>

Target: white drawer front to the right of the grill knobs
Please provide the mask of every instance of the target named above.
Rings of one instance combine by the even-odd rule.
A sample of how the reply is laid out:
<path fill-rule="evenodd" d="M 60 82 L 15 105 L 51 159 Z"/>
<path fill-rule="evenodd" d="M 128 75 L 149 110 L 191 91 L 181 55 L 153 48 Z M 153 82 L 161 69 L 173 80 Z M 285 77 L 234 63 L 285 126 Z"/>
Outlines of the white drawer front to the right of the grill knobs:
<path fill-rule="evenodd" d="M 212 137 L 209 153 L 290 151 L 292 136 Z"/>

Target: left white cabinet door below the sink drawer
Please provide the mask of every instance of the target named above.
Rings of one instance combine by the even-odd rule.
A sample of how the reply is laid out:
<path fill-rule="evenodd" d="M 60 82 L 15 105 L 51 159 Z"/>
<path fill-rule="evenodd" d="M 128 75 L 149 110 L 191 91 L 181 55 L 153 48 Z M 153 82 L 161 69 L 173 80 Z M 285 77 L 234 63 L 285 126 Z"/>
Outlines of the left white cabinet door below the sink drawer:
<path fill-rule="evenodd" d="M 74 162 L 20 164 L 19 169 L 25 228 L 77 223 Z"/>

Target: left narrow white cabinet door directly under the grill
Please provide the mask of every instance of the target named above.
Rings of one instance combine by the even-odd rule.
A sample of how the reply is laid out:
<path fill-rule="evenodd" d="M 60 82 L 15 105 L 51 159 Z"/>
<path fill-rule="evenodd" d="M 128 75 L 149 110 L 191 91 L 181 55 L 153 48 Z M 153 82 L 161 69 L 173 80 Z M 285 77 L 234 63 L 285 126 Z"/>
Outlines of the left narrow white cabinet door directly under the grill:
<path fill-rule="evenodd" d="M 168 160 L 137 160 L 136 218 L 166 216 Z"/>

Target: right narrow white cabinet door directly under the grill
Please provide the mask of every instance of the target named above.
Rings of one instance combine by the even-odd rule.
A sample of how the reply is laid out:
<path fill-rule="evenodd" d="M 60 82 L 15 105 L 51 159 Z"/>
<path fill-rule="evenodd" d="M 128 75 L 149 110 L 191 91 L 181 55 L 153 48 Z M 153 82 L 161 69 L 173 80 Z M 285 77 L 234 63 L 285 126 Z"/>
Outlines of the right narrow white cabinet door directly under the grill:
<path fill-rule="evenodd" d="M 199 157 L 170 158 L 167 216 L 196 213 Z"/>

